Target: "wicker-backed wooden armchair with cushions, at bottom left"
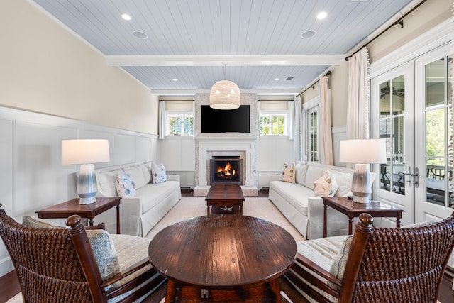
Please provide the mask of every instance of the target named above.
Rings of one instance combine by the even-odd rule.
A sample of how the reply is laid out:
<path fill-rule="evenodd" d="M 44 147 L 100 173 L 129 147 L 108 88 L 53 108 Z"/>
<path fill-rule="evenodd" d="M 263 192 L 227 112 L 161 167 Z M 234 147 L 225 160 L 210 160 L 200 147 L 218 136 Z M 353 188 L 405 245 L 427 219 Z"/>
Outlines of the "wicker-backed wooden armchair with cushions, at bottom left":
<path fill-rule="evenodd" d="M 140 302 L 165 281 L 148 262 L 149 239 L 85 231 L 79 216 L 67 219 L 69 229 L 26 218 L 19 224 L 0 204 L 23 302 Z"/>

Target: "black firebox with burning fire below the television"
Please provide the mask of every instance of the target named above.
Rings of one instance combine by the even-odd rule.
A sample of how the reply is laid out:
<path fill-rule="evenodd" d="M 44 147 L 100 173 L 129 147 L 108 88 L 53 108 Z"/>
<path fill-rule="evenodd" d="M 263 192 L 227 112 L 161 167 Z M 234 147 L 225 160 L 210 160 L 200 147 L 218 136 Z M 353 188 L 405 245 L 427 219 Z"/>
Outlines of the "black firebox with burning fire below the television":
<path fill-rule="evenodd" d="M 241 184 L 243 160 L 240 156 L 214 156 L 210 159 L 210 182 Z"/>

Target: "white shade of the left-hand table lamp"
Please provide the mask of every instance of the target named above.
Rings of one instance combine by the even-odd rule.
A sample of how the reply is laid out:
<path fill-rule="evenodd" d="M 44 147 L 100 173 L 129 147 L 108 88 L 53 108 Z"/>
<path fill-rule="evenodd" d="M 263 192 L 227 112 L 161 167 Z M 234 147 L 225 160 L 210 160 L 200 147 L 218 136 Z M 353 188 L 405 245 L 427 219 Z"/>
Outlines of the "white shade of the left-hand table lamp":
<path fill-rule="evenodd" d="M 62 164 L 109 162 L 109 141 L 103 139 L 62 140 Z"/>

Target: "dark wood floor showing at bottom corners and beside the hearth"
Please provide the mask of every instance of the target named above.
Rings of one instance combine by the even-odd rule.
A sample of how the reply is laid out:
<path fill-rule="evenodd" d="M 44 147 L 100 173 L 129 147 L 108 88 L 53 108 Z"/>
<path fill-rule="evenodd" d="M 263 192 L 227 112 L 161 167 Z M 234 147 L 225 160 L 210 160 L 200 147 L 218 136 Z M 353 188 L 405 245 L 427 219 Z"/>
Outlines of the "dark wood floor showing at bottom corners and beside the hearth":
<path fill-rule="evenodd" d="M 183 189 L 182 196 L 192 197 L 192 190 Z M 267 190 L 260 190 L 259 197 L 268 197 Z M 454 302 L 454 290 L 451 289 L 452 285 L 453 278 L 445 275 L 443 282 L 441 283 L 440 293 L 438 294 L 438 301 L 441 303 Z M 0 277 L 0 289 L 0 303 L 8 301 L 21 292 L 21 287 L 19 285 L 15 270 Z"/>

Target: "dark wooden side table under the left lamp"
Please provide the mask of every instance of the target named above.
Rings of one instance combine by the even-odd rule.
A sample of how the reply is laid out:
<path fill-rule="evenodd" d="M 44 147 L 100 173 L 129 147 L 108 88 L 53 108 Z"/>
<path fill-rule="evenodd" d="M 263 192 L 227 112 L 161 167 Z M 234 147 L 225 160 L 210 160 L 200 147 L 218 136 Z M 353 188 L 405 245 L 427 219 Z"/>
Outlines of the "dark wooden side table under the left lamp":
<path fill-rule="evenodd" d="M 93 219 L 98 214 L 116 206 L 116 233 L 120 233 L 120 197 L 96 198 L 92 204 L 79 204 L 79 199 L 72 199 L 48 208 L 36 211 L 41 219 L 67 218 L 73 214 L 81 218 L 88 218 L 89 225 L 93 225 Z"/>

